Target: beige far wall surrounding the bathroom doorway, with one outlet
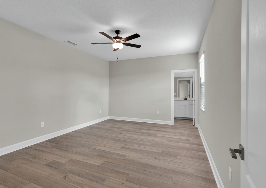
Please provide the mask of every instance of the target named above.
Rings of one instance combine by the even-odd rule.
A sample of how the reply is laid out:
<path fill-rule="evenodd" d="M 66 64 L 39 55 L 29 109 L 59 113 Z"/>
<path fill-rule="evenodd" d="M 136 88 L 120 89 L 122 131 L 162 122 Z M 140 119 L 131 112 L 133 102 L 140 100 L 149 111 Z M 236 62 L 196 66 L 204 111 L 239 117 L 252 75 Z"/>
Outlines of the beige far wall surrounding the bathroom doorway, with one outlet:
<path fill-rule="evenodd" d="M 192 53 L 110 62 L 109 116 L 171 121 L 171 70 L 197 69 L 197 59 Z"/>

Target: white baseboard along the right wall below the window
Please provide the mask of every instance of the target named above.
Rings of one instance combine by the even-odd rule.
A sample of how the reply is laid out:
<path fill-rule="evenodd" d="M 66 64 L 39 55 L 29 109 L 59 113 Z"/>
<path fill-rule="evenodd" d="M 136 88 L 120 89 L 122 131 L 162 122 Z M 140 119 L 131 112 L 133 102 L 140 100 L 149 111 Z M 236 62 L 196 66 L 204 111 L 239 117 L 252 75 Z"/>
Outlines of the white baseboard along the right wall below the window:
<path fill-rule="evenodd" d="M 208 145 L 207 145 L 207 143 L 206 143 L 206 141 L 205 141 L 205 139 L 204 139 L 204 136 L 203 136 L 203 134 L 202 134 L 202 132 L 201 132 L 201 130 L 200 130 L 199 124 L 198 124 L 197 128 L 198 128 L 198 130 L 199 130 L 200 137 L 201 137 L 201 139 L 202 139 L 202 142 L 203 142 L 203 145 L 204 145 L 204 148 L 205 148 L 206 154 L 207 154 L 207 156 L 208 156 L 208 159 L 209 159 L 209 162 L 210 162 L 210 167 L 212 168 L 213 175 L 214 175 L 214 178 L 215 178 L 215 181 L 216 181 L 217 187 L 218 187 L 218 188 L 224 188 L 224 186 L 223 186 L 223 182 L 222 182 L 221 177 L 220 177 L 220 175 L 219 175 L 219 173 L 218 173 L 218 170 L 217 170 L 217 168 L 216 168 L 216 166 L 215 166 L 215 164 L 214 164 L 213 157 L 212 157 L 212 155 L 210 154 L 210 150 L 209 150 Z"/>

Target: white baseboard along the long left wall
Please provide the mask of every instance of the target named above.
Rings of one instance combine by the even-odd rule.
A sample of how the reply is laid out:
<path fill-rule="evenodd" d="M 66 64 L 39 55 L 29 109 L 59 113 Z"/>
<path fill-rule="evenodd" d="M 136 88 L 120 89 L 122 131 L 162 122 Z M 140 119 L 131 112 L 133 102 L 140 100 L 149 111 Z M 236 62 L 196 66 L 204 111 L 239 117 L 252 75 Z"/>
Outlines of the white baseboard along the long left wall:
<path fill-rule="evenodd" d="M 49 140 L 49 139 L 54 138 L 54 137 L 58 137 L 58 136 L 60 136 L 62 134 L 66 134 L 68 132 L 71 132 L 71 131 L 74 131 L 74 130 L 78 130 L 78 129 L 81 129 L 81 128 L 84 128 L 84 127 L 87 127 L 87 126 L 90 126 L 90 125 L 93 125 L 93 124 L 96 124 L 96 123 L 99 123 L 99 122 L 107 120 L 107 119 L 108 119 L 108 116 L 100 118 L 100 119 L 96 119 L 96 120 L 93 120 L 93 121 L 90 121 L 90 122 L 87 122 L 87 123 L 84 123 L 84 124 L 80 124 L 80 125 L 77 125 L 77 126 L 74 126 L 74 127 L 70 127 L 70 128 L 64 129 L 64 130 L 60 130 L 60 131 L 57 131 L 57 132 L 52 132 L 50 134 L 46 134 L 46 135 L 43 135 L 43 136 L 40 136 L 40 137 L 37 137 L 37 138 L 34 138 L 34 139 L 30 139 L 30 140 L 21 142 L 21 143 L 10 145 L 10 146 L 7 146 L 5 148 L 1 148 L 0 149 L 0 156 L 4 155 L 4 154 L 7 154 L 7 153 L 10 153 L 10 152 L 14 152 L 16 150 L 20 150 L 22 148 L 28 147 L 28 146 L 36 144 L 36 143 L 40 143 L 40 142 L 45 141 L 45 140 Z"/>

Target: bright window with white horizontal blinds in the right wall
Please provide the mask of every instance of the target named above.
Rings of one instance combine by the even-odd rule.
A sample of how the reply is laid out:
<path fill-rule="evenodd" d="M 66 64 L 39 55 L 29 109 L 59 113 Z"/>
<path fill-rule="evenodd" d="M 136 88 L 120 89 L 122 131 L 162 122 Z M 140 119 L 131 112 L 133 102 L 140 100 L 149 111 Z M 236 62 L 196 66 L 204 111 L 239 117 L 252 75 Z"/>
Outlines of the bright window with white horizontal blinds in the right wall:
<path fill-rule="evenodd" d="M 202 54 L 199 58 L 199 70 L 200 70 L 200 108 L 205 111 L 205 51 L 202 51 Z M 202 65 L 203 63 L 203 65 Z M 202 69 L 203 66 L 203 69 Z M 203 74 L 203 75 L 202 75 Z M 204 80 L 202 82 L 202 79 Z M 202 84 L 203 83 L 203 84 Z M 202 87 L 203 85 L 203 87 Z M 203 88 L 203 91 L 202 91 Z M 202 93 L 203 93 L 203 97 L 202 97 Z M 203 98 L 203 99 L 202 99 Z M 202 106 L 202 103 L 204 106 Z"/>

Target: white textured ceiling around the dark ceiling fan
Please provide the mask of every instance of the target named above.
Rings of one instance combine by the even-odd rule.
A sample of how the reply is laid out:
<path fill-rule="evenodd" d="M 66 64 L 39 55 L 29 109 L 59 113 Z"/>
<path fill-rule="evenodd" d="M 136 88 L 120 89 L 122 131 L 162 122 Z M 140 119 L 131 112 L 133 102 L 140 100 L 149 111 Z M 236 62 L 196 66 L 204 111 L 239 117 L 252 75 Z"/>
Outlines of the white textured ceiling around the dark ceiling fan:
<path fill-rule="evenodd" d="M 70 40 L 89 54 L 108 61 L 117 51 L 114 30 L 125 38 L 141 37 L 118 50 L 119 60 L 199 51 L 214 0 L 0 0 L 0 18 L 64 43 Z M 64 43 L 66 44 L 66 43 Z M 66 44 L 69 45 L 69 44 Z"/>

